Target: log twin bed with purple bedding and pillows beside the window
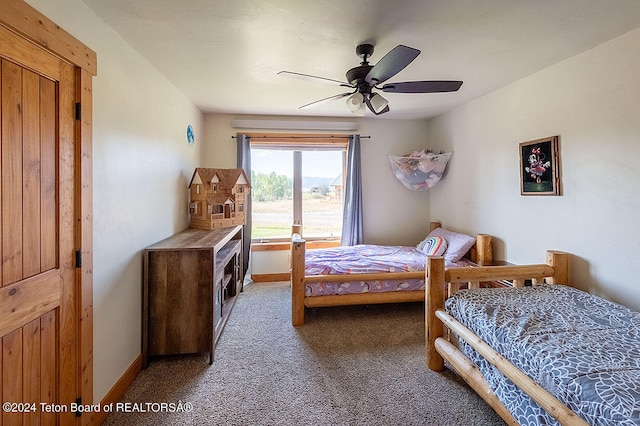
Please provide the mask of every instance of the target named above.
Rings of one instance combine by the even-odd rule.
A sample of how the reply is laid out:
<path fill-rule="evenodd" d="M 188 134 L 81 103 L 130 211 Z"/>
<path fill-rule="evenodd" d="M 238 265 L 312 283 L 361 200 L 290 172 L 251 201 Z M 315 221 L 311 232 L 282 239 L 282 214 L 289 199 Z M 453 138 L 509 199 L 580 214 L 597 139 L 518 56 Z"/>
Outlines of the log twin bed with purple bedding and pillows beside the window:
<path fill-rule="evenodd" d="M 493 258 L 491 236 L 447 231 L 430 223 L 422 246 L 341 246 L 307 250 L 300 228 L 291 239 L 291 322 L 304 324 L 305 307 L 423 301 L 426 254 L 442 253 L 450 266 L 471 266 Z M 444 246 L 427 245 L 438 238 Z M 440 241 L 442 242 L 442 241 Z M 420 248 L 420 250 L 418 250 Z"/>

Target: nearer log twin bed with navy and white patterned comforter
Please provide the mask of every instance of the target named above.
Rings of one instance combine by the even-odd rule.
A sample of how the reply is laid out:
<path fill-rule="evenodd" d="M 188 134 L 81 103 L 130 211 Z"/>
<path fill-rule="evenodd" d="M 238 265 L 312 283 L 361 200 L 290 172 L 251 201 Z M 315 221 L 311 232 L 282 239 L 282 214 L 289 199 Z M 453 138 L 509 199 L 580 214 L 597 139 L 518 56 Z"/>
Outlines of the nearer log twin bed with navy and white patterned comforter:
<path fill-rule="evenodd" d="M 640 424 L 640 313 L 566 285 L 566 253 L 478 268 L 430 258 L 426 274 L 429 368 L 446 361 L 507 424 Z M 513 287 L 473 288 L 493 280 Z"/>

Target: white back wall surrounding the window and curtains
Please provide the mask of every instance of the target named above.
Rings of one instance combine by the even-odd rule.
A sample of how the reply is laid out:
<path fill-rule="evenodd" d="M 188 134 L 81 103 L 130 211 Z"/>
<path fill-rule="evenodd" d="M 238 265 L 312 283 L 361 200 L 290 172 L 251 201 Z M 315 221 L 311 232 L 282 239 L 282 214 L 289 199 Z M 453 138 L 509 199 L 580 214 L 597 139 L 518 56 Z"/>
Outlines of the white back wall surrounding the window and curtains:
<path fill-rule="evenodd" d="M 309 117 L 240 116 L 207 114 L 204 118 L 205 140 L 203 167 L 236 167 L 236 133 L 286 133 L 281 130 L 235 129 L 233 119 L 313 121 Z M 317 118 L 318 121 L 345 121 Z M 406 189 L 391 173 L 389 155 L 404 155 L 429 148 L 427 122 L 424 120 L 385 120 L 353 118 L 359 129 L 353 132 L 371 139 L 361 140 L 364 238 L 371 244 L 417 244 L 429 231 L 429 193 Z M 291 133 L 291 132 L 289 132 Z M 304 131 L 294 131 L 304 133 Z M 308 133 L 323 133 L 310 130 Z M 325 132 L 326 133 L 326 132 Z M 329 132 L 331 133 L 331 132 Z M 423 235 L 424 234 L 424 235 Z"/>

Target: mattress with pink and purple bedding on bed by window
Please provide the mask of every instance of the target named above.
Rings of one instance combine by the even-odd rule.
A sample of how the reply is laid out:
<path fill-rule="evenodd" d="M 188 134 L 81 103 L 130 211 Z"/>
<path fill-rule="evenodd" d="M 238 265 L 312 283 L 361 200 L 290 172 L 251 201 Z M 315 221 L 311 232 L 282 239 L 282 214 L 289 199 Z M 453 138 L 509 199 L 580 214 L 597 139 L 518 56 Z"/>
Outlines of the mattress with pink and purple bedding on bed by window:
<path fill-rule="evenodd" d="M 424 271 L 427 256 L 415 247 L 361 244 L 307 250 L 305 275 L 336 275 L 331 281 L 306 283 L 305 296 L 424 290 L 424 279 L 341 282 L 339 275 Z M 468 266 L 462 259 L 447 266 Z"/>

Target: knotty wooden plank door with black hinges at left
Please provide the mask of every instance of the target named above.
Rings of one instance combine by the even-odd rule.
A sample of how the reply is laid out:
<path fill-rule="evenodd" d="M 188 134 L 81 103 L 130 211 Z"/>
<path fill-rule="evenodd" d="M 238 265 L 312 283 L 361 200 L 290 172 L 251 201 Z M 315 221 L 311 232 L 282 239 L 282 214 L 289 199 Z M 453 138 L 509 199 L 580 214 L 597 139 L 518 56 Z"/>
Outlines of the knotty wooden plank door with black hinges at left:
<path fill-rule="evenodd" d="M 75 71 L 0 27 L 0 80 L 0 425 L 75 424 Z"/>

